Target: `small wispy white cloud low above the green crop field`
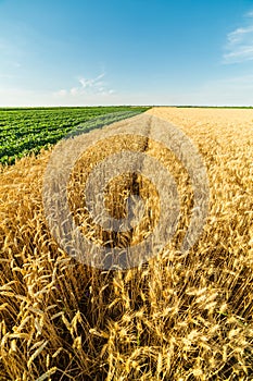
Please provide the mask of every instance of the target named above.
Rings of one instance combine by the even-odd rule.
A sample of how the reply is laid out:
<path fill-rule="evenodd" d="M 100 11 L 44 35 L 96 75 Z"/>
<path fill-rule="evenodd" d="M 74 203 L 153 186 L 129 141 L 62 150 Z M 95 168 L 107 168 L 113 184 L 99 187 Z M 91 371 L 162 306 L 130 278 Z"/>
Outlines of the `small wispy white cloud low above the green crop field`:
<path fill-rule="evenodd" d="M 115 93 L 109 88 L 104 81 L 105 74 L 101 73 L 94 78 L 79 77 L 78 85 L 71 89 L 60 89 L 54 93 L 56 97 L 79 97 L 79 96 L 110 96 Z"/>

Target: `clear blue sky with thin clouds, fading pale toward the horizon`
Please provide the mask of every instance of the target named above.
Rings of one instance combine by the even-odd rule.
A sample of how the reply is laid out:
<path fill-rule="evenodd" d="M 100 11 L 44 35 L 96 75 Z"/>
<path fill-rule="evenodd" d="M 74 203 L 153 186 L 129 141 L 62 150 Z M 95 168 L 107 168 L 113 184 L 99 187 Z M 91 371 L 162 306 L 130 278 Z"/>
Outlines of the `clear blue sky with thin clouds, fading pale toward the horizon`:
<path fill-rule="evenodd" d="M 253 106 L 253 1 L 0 0 L 0 107 Z"/>

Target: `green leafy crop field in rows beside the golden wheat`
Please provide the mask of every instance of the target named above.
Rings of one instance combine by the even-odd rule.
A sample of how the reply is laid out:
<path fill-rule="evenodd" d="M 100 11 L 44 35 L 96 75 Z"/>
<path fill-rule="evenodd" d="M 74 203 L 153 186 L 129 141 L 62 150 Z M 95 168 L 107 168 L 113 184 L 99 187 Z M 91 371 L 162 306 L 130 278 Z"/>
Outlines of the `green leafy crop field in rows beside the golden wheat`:
<path fill-rule="evenodd" d="M 148 110 L 147 107 L 0 109 L 0 163 Z"/>

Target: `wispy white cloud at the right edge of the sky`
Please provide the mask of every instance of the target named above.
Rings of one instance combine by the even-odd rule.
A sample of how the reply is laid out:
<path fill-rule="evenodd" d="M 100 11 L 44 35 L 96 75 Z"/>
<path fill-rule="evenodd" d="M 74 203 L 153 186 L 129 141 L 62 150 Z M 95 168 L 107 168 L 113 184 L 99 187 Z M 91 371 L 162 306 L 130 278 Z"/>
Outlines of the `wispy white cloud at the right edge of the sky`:
<path fill-rule="evenodd" d="M 223 62 L 240 63 L 253 60 L 253 11 L 244 16 L 244 25 L 227 35 Z"/>

